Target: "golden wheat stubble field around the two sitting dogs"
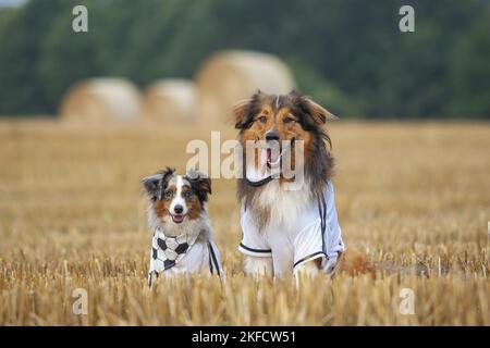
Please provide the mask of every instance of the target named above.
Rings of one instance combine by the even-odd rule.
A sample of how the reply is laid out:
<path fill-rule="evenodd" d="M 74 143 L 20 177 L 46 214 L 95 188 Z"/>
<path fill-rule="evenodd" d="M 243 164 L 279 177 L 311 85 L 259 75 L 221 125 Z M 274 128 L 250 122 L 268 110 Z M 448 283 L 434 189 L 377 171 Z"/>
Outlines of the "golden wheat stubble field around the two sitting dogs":
<path fill-rule="evenodd" d="M 245 278 L 235 183 L 221 179 L 209 210 L 226 282 L 148 289 L 139 178 L 183 170 L 187 141 L 210 130 L 1 122 L 0 325 L 490 325 L 488 124 L 331 126 L 344 240 L 388 271 L 377 279 Z M 76 288 L 87 315 L 72 311 Z"/>

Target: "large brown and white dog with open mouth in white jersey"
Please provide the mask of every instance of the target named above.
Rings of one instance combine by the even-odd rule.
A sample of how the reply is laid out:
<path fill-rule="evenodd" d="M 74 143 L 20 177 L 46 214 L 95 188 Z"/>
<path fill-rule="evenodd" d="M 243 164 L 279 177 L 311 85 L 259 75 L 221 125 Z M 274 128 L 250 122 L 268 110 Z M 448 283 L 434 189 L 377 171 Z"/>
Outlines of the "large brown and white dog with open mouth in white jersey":
<path fill-rule="evenodd" d="M 243 176 L 237 181 L 244 272 L 285 276 L 370 271 L 362 253 L 345 252 L 338 222 L 334 161 L 324 127 L 336 117 L 295 91 L 259 91 L 238 103 L 233 115 L 242 148 L 260 144 L 255 152 L 243 151 Z M 302 169 L 295 189 L 286 188 L 297 177 L 284 175 L 284 164 L 296 173 Z M 270 174 L 273 169 L 275 176 Z"/>

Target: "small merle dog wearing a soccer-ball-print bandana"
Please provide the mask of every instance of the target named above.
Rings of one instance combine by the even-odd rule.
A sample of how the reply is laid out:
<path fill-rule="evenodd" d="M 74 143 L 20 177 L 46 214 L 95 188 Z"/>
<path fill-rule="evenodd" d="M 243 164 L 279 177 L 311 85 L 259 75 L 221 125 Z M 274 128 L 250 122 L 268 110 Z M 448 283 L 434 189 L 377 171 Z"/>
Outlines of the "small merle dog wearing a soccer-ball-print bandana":
<path fill-rule="evenodd" d="M 206 211 L 211 181 L 189 171 L 176 175 L 167 167 L 143 179 L 148 197 L 148 224 L 154 238 L 148 284 L 154 275 L 218 274 L 222 266 L 212 241 L 212 228 Z"/>

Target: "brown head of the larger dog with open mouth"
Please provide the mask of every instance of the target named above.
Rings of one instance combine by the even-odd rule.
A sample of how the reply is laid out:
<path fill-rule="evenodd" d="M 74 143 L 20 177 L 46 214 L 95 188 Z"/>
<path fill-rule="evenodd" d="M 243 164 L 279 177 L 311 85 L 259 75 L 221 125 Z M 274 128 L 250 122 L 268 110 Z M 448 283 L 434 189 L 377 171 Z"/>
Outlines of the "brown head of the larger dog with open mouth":
<path fill-rule="evenodd" d="M 283 96 L 259 91 L 250 99 L 238 103 L 233 110 L 233 115 L 243 145 L 247 141 L 266 144 L 264 156 L 255 158 L 265 158 L 264 161 L 269 167 L 278 164 L 287 149 L 291 149 L 294 160 L 294 141 L 304 141 L 306 156 L 313 153 L 309 149 L 316 136 L 323 137 L 330 142 L 330 138 L 321 127 L 327 120 L 335 119 L 310 98 L 295 91 Z M 274 150 L 274 147 L 279 147 L 279 150 Z"/>

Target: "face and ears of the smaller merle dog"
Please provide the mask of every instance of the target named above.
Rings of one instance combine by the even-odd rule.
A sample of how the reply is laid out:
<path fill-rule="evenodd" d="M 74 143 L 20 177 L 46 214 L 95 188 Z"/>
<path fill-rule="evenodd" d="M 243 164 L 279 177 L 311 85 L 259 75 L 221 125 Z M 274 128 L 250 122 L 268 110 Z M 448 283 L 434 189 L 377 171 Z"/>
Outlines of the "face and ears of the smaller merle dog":
<path fill-rule="evenodd" d="M 180 224 L 198 219 L 204 211 L 211 181 L 197 172 L 176 175 L 167 169 L 143 179 L 155 214 L 163 222 Z"/>

